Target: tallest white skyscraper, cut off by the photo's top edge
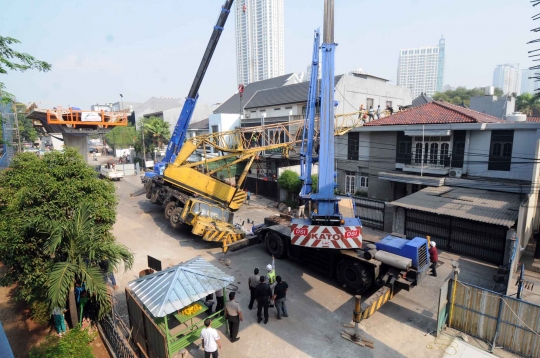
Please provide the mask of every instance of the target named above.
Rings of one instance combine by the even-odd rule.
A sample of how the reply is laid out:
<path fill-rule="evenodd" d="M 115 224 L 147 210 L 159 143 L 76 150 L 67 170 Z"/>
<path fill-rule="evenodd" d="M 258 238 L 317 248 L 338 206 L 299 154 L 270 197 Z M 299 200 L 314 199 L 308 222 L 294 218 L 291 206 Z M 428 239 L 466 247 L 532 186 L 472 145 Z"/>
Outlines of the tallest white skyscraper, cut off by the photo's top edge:
<path fill-rule="evenodd" d="M 236 2 L 238 84 L 285 74 L 283 0 Z"/>

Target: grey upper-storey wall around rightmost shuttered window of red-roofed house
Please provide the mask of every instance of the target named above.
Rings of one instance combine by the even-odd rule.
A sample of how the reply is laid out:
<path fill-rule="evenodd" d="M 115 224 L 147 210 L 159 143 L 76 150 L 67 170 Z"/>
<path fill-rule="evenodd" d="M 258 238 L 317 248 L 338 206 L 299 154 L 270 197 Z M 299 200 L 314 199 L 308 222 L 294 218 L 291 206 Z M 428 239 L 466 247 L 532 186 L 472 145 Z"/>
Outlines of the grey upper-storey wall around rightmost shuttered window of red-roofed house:
<path fill-rule="evenodd" d="M 515 130 L 510 171 L 488 170 L 491 131 L 470 131 L 467 174 L 472 176 L 531 180 L 535 142 L 540 131 Z"/>

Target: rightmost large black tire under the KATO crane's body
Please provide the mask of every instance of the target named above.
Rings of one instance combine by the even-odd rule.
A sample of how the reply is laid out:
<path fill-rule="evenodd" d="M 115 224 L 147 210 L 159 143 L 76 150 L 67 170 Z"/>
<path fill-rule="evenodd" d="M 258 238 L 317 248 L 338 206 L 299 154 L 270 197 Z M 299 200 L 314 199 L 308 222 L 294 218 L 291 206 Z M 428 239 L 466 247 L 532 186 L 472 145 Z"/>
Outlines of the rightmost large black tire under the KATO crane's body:
<path fill-rule="evenodd" d="M 337 278 L 352 294 L 366 292 L 373 283 L 373 271 L 359 261 L 343 259 L 337 265 Z"/>

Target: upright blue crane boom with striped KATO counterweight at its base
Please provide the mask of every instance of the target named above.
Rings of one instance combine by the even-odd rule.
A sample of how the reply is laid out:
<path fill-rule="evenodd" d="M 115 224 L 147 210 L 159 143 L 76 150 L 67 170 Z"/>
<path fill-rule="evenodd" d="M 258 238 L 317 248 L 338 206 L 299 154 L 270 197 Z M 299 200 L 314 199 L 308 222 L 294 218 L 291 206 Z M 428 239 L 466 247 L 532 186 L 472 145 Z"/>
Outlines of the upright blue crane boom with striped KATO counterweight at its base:
<path fill-rule="evenodd" d="M 322 232 L 332 226 L 332 233 L 341 235 L 341 240 L 361 237 L 361 221 L 354 214 L 354 202 L 351 199 L 338 198 L 335 195 L 336 173 L 334 170 L 334 4 L 325 1 L 324 33 L 322 52 L 322 76 L 320 81 L 320 120 L 319 120 L 319 181 L 316 193 L 312 193 L 311 167 L 313 157 L 315 112 L 317 106 L 318 68 L 319 68 L 319 31 L 315 31 L 311 82 L 308 94 L 306 119 L 301 148 L 301 179 L 303 180 L 300 197 L 311 200 L 317 212 L 308 219 L 293 219 L 293 237 L 305 236 L 302 233 Z M 341 205 L 340 205 L 341 204 Z M 343 212 L 340 212 L 343 211 Z M 295 233 L 295 228 L 299 230 Z M 339 234 L 338 234 L 339 232 Z M 360 244 L 359 240 L 355 240 Z M 296 240 L 295 242 L 301 242 Z M 335 248 L 339 246 L 336 245 Z"/>

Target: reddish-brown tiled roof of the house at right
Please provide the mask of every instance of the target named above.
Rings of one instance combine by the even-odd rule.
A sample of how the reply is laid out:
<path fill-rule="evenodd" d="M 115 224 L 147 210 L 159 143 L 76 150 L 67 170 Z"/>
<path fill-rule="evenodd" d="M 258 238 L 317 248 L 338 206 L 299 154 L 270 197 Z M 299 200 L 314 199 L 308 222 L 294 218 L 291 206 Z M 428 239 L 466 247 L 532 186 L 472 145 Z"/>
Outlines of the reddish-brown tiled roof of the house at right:
<path fill-rule="evenodd" d="M 505 123 L 504 120 L 454 104 L 433 101 L 419 107 L 376 119 L 364 126 L 391 126 L 445 123 Z"/>

